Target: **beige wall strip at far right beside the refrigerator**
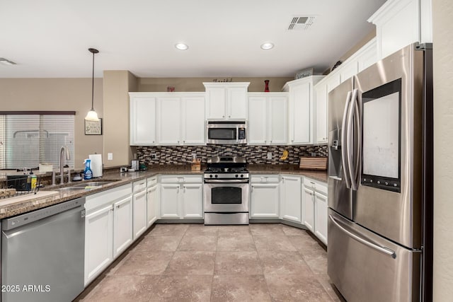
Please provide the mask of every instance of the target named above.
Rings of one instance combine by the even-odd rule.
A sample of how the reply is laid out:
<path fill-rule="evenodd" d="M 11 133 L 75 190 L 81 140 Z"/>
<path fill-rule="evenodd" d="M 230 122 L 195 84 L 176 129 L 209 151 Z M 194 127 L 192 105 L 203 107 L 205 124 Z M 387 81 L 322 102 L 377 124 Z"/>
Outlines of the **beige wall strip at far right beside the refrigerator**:
<path fill-rule="evenodd" d="M 434 301 L 453 297 L 453 1 L 432 1 Z"/>

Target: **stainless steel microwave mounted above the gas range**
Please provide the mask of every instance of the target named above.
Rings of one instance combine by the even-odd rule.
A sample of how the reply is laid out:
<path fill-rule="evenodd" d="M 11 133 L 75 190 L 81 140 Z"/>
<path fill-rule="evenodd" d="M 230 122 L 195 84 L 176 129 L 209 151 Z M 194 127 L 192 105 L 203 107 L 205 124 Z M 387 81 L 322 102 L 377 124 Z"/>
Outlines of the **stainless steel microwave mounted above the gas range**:
<path fill-rule="evenodd" d="M 207 144 L 247 144 L 246 121 L 208 121 Z"/>

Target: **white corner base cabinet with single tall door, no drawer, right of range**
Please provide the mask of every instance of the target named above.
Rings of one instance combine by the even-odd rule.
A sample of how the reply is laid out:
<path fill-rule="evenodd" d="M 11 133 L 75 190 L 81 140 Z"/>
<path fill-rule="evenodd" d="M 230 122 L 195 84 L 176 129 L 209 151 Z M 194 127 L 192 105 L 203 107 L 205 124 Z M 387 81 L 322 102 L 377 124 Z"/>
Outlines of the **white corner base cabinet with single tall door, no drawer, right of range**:
<path fill-rule="evenodd" d="M 282 175 L 280 182 L 280 218 L 302 223 L 300 176 Z"/>

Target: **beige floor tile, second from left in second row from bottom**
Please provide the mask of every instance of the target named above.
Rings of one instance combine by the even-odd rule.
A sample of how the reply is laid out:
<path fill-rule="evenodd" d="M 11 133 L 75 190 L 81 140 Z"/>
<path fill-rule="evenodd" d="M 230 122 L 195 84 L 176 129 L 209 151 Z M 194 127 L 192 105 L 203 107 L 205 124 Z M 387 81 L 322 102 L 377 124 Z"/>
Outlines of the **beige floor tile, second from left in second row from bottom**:
<path fill-rule="evenodd" d="M 215 252 L 175 252 L 164 274 L 214 274 Z"/>

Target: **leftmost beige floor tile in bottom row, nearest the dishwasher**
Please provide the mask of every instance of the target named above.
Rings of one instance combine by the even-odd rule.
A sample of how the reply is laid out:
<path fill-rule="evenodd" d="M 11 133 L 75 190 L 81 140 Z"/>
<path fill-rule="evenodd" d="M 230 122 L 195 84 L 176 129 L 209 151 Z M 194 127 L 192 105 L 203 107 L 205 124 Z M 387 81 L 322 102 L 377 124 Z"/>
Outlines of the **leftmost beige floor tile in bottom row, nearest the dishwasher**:
<path fill-rule="evenodd" d="M 159 276 L 107 276 L 84 301 L 149 301 Z"/>

